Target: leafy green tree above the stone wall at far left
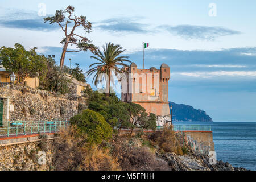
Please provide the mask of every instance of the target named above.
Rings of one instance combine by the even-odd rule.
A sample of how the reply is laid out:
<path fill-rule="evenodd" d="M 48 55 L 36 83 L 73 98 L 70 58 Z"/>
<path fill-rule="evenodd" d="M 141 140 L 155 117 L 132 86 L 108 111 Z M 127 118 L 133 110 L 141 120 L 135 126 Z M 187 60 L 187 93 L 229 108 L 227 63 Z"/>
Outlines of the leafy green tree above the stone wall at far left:
<path fill-rule="evenodd" d="M 18 84 L 23 85 L 27 77 L 39 76 L 39 80 L 46 78 L 47 58 L 36 53 L 36 47 L 26 51 L 21 44 L 14 48 L 1 47 L 0 61 L 6 71 L 17 74 Z"/>

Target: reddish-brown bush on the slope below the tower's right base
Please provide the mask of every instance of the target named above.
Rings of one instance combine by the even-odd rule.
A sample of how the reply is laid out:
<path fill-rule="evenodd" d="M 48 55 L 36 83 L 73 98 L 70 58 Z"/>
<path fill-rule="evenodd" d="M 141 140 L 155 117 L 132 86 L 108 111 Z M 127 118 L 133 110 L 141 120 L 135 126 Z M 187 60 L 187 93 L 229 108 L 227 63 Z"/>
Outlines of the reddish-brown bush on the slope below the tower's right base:
<path fill-rule="evenodd" d="M 164 126 L 162 131 L 156 131 L 151 139 L 158 144 L 162 152 L 174 152 L 183 155 L 182 147 L 177 140 L 177 136 L 172 125 Z"/>

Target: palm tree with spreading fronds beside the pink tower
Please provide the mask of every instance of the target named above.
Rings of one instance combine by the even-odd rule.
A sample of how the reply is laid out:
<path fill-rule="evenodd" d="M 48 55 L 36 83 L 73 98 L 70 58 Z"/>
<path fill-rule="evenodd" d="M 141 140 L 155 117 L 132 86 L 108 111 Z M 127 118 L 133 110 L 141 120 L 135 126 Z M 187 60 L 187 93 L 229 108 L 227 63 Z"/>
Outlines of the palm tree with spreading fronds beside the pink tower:
<path fill-rule="evenodd" d="M 106 43 L 106 46 L 103 47 L 103 52 L 100 51 L 99 48 L 97 48 L 97 57 L 91 56 L 90 58 L 98 60 L 97 63 L 93 63 L 90 65 L 89 68 L 93 67 L 96 65 L 96 67 L 93 67 L 89 69 L 87 72 L 88 77 L 91 75 L 94 75 L 93 81 L 94 85 L 97 86 L 98 82 L 102 81 L 102 77 L 104 77 L 108 82 L 106 82 L 106 90 L 109 92 L 106 93 L 106 96 L 109 96 L 110 94 L 110 81 L 113 78 L 113 72 L 115 75 L 118 75 L 119 73 L 126 72 L 122 68 L 119 68 L 118 66 L 123 66 L 123 67 L 128 67 L 127 64 L 123 63 L 125 61 L 129 61 L 129 56 L 119 56 L 121 53 L 126 51 L 125 49 L 122 50 L 123 48 L 120 45 L 114 45 L 113 43 Z M 108 79 L 106 78 L 108 77 Z"/>

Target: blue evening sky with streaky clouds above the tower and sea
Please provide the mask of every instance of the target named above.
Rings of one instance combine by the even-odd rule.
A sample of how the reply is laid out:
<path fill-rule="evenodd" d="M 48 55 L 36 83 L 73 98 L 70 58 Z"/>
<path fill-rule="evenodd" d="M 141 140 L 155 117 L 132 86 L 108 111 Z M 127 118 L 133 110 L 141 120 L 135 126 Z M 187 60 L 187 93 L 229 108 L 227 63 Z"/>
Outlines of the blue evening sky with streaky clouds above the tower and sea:
<path fill-rule="evenodd" d="M 171 67 L 168 98 L 205 110 L 213 121 L 256 122 L 256 1 L 0 1 L 0 47 L 22 44 L 56 55 L 64 32 L 43 22 L 72 5 L 93 31 L 76 33 L 101 47 L 113 42 L 143 67 Z M 75 47 L 69 47 L 75 49 Z M 90 52 L 67 53 L 65 65 L 79 63 L 88 71 Z M 87 79 L 92 84 L 92 79 Z"/>

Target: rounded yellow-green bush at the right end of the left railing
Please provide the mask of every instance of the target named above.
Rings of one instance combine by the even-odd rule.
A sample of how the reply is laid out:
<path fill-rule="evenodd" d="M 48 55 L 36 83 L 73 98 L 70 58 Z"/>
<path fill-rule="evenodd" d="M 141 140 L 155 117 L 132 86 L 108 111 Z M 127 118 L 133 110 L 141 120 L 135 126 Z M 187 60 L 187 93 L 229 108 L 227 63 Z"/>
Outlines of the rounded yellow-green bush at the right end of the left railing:
<path fill-rule="evenodd" d="M 71 118 L 71 125 L 76 125 L 81 133 L 88 136 L 89 143 L 100 144 L 102 140 L 112 138 L 113 129 L 100 113 L 84 110 Z"/>

